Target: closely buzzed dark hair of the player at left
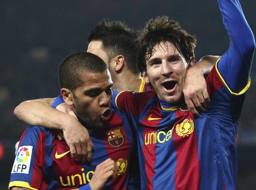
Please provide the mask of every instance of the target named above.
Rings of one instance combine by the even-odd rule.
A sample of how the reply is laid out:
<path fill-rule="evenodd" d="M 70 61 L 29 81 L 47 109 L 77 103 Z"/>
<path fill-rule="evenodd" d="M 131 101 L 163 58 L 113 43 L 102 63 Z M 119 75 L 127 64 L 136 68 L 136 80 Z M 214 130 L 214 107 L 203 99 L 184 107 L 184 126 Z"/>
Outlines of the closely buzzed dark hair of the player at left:
<path fill-rule="evenodd" d="M 88 52 L 77 52 L 66 57 L 58 67 L 58 81 L 61 88 L 68 88 L 74 92 L 82 85 L 81 74 L 102 73 L 107 65 L 98 56 Z"/>

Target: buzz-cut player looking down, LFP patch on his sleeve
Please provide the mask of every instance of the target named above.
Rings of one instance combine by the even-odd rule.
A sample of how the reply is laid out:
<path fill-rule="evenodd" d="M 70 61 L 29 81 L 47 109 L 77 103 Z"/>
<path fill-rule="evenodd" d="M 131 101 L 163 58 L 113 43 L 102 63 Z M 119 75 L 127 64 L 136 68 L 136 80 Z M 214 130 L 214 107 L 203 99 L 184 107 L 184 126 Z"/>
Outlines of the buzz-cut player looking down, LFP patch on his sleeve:
<path fill-rule="evenodd" d="M 96 55 L 79 52 L 61 62 L 58 78 L 64 101 L 90 129 L 96 145 L 93 160 L 77 162 L 67 143 L 58 141 L 52 130 L 29 127 L 20 138 L 9 189 L 126 189 L 134 141 L 131 128 L 108 125 L 115 116 L 110 109 L 113 83 L 107 66 Z"/>

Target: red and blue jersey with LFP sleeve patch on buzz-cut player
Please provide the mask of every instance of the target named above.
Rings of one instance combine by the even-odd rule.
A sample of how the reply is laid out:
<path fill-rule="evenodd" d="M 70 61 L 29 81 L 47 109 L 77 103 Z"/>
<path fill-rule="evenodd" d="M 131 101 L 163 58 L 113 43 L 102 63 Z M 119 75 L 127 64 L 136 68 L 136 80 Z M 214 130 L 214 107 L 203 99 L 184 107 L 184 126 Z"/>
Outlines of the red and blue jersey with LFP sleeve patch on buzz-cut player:
<path fill-rule="evenodd" d="M 128 169 L 134 135 L 131 128 L 124 127 L 125 122 L 128 121 L 114 112 L 109 127 L 89 131 L 95 147 L 92 161 L 87 164 L 76 162 L 71 157 L 67 143 L 55 139 L 52 130 L 39 126 L 27 128 L 20 139 L 9 189 L 26 187 L 32 190 L 70 190 L 81 186 L 90 189 L 88 183 L 96 166 L 108 158 L 116 161 L 120 168 L 105 189 L 140 189 L 140 186 L 136 186 L 138 183 L 140 185 L 140 181 L 131 179 Z"/>

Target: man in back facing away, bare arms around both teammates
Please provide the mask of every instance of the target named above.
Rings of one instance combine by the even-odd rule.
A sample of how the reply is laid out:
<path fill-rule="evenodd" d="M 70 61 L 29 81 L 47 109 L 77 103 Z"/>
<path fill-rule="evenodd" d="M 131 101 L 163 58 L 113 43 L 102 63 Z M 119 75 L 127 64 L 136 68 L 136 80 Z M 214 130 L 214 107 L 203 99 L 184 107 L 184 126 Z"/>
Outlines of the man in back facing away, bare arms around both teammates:
<path fill-rule="evenodd" d="M 136 66 L 136 33 L 120 21 L 102 20 L 88 37 L 88 52 L 96 54 L 108 65 L 116 91 L 151 91 Z M 215 56 L 203 57 L 197 64 L 205 68 L 208 74 L 218 60 Z M 204 74 L 195 74 L 186 78 L 184 96 L 188 108 L 195 114 L 207 111 L 207 94 Z M 25 101 L 15 108 L 15 115 L 29 125 L 43 125 L 47 128 L 63 130 L 70 147 L 71 155 L 77 160 L 90 161 L 92 144 L 87 130 L 74 118 L 52 109 L 54 99 Z M 197 109 L 195 108 L 197 107 Z M 57 107 L 58 108 L 58 107 Z M 75 116 L 69 107 L 58 108 Z M 61 119 L 60 119 L 61 118 Z"/>

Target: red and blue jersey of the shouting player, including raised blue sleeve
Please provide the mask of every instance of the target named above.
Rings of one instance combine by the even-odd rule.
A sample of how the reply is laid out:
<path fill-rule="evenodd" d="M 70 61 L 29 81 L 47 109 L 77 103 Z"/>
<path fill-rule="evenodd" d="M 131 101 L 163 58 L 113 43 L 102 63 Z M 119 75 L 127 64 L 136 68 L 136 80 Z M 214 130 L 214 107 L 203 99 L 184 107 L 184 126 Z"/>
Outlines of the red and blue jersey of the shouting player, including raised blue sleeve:
<path fill-rule="evenodd" d="M 142 189 L 236 188 L 236 132 L 255 41 L 237 0 L 218 0 L 230 48 L 207 76 L 208 113 L 195 119 L 185 105 L 155 92 L 115 92 L 112 104 L 137 130 Z"/>

